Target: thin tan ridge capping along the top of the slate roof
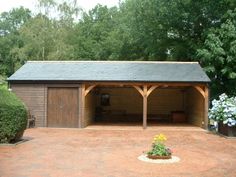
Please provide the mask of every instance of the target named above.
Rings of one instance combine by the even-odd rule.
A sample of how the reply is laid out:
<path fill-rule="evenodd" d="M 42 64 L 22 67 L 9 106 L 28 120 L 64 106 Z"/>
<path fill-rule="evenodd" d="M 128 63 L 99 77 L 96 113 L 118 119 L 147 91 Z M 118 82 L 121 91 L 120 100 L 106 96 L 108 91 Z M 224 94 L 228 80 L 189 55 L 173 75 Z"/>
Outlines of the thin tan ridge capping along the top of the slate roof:
<path fill-rule="evenodd" d="M 197 61 L 119 61 L 119 60 L 37 60 L 27 63 L 175 63 L 175 64 L 198 64 Z"/>

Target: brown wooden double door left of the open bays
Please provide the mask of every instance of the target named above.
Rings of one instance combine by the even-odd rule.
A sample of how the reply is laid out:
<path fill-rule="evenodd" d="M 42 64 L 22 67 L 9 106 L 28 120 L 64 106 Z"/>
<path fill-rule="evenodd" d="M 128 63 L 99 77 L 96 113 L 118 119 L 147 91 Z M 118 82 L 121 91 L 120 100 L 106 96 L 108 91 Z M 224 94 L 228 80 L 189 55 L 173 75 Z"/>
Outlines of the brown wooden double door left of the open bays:
<path fill-rule="evenodd" d="M 78 127 L 78 88 L 48 88 L 48 127 Z"/>

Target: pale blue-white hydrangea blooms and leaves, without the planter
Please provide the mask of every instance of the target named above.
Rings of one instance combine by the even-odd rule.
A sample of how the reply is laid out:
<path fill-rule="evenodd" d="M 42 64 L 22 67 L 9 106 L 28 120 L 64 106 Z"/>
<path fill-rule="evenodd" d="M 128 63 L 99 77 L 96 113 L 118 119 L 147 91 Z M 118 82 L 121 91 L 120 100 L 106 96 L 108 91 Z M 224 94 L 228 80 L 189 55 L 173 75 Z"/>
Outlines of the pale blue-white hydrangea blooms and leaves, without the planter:
<path fill-rule="evenodd" d="M 236 126 L 236 97 L 228 97 L 225 93 L 219 99 L 212 101 L 209 109 L 209 118 L 217 122 L 223 122 L 228 126 Z"/>

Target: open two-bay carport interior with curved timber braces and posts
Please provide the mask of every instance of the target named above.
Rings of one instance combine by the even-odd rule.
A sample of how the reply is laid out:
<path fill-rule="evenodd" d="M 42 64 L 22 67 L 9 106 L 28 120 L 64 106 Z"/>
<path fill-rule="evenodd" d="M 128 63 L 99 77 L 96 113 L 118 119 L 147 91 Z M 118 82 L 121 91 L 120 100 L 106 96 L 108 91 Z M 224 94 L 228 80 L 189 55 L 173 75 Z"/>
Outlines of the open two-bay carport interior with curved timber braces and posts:
<path fill-rule="evenodd" d="M 195 84 L 84 86 L 84 127 L 91 124 L 207 126 L 208 89 Z"/>

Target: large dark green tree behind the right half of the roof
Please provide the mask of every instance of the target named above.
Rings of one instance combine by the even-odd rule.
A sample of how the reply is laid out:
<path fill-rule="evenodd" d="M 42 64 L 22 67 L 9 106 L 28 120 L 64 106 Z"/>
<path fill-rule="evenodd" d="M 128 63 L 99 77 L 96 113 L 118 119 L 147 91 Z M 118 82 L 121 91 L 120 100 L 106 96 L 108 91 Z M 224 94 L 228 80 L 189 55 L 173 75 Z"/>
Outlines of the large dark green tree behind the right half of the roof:
<path fill-rule="evenodd" d="M 229 0 L 126 0 L 127 16 L 137 56 L 144 60 L 194 60 L 205 31 L 235 7 Z"/>

